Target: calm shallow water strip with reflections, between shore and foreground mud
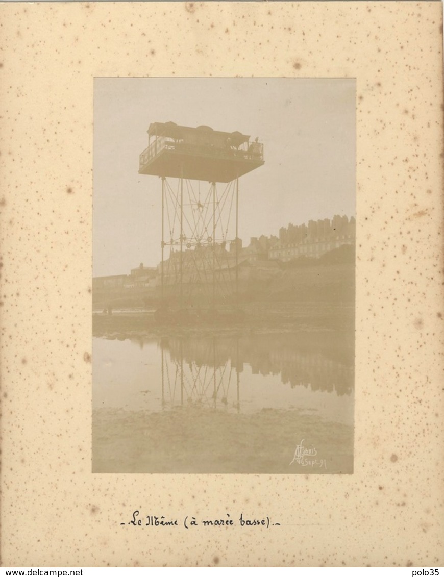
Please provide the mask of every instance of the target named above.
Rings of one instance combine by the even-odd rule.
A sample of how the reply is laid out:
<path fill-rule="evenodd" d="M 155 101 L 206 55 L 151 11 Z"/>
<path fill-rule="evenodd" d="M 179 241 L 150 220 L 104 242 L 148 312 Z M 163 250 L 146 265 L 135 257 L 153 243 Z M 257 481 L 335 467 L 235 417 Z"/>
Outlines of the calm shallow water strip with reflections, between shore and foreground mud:
<path fill-rule="evenodd" d="M 313 411 L 353 424 L 353 349 L 338 335 L 94 339 L 93 408 Z"/>

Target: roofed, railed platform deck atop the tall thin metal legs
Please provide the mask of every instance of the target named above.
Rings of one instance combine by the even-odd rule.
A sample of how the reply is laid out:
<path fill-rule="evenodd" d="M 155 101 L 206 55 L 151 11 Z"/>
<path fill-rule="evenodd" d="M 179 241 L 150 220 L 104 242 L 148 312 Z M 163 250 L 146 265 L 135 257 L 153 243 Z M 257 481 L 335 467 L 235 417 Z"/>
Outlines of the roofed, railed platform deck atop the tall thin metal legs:
<path fill-rule="evenodd" d="M 240 132 L 210 126 L 154 122 L 148 148 L 139 158 L 139 174 L 207 182 L 231 182 L 264 164 L 263 144 Z"/>

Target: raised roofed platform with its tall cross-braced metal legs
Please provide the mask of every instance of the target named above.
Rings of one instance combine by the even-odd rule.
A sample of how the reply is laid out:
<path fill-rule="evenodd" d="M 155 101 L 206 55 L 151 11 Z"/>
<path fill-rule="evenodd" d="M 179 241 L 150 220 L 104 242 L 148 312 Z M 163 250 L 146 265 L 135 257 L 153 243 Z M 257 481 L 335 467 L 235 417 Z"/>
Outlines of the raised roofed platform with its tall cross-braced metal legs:
<path fill-rule="evenodd" d="M 162 182 L 163 305 L 214 309 L 237 299 L 239 177 L 262 164 L 258 138 L 209 126 L 150 125 L 139 174 Z"/>

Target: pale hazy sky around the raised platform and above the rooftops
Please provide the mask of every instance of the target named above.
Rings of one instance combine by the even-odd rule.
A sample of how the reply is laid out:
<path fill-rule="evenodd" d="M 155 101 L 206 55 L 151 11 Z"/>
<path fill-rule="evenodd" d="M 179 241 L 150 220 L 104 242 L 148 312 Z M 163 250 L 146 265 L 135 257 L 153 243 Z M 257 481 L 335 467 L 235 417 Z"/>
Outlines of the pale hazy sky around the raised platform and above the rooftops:
<path fill-rule="evenodd" d="M 94 88 L 94 276 L 161 258 L 161 181 L 138 174 L 151 122 L 264 143 L 265 164 L 239 179 L 244 246 L 290 222 L 355 215 L 353 79 L 96 78 Z"/>

